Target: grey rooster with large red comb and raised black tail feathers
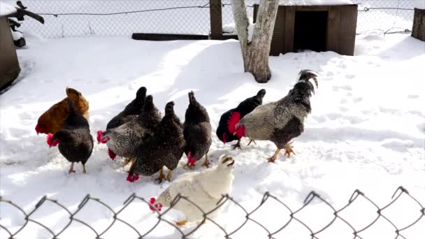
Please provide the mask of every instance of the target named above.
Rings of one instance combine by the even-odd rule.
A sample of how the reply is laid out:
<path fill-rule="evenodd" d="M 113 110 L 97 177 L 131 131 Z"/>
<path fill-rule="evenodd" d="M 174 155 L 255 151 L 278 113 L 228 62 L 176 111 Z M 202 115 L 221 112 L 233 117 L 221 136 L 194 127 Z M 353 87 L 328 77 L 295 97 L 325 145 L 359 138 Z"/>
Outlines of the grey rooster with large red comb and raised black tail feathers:
<path fill-rule="evenodd" d="M 298 82 L 284 98 L 259 106 L 242 119 L 239 113 L 233 113 L 229 131 L 238 137 L 275 143 L 278 149 L 268 159 L 270 162 L 276 160 L 283 148 L 289 157 L 294 152 L 289 141 L 304 131 L 304 119 L 311 112 L 310 96 L 315 93 L 315 87 L 318 87 L 317 74 L 310 70 L 301 71 Z"/>

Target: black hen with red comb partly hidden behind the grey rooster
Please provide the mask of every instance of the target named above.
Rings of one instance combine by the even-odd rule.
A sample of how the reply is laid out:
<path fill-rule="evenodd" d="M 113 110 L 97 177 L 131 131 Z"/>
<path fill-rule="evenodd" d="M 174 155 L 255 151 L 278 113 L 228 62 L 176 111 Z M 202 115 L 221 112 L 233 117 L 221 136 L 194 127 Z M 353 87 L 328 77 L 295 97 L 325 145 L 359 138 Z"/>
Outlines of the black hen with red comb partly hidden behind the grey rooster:
<path fill-rule="evenodd" d="M 234 112 L 238 112 L 240 114 L 240 117 L 244 117 L 245 115 L 250 113 L 252 110 L 257 108 L 257 106 L 261 106 L 263 104 L 264 95 L 266 95 L 266 89 L 260 89 L 257 95 L 252 96 L 248 99 L 245 99 L 245 101 L 240 102 L 238 107 L 233 108 L 231 110 L 227 110 L 222 115 L 222 117 L 220 117 L 217 131 L 215 132 L 219 140 L 221 140 L 223 143 L 231 142 L 233 140 L 238 140 L 238 143 L 236 143 L 236 145 L 233 145 L 233 149 L 235 149 L 236 147 L 240 147 L 240 138 L 236 135 L 233 135 L 233 133 L 229 132 L 229 129 L 227 129 L 227 122 L 229 121 L 231 114 Z"/>

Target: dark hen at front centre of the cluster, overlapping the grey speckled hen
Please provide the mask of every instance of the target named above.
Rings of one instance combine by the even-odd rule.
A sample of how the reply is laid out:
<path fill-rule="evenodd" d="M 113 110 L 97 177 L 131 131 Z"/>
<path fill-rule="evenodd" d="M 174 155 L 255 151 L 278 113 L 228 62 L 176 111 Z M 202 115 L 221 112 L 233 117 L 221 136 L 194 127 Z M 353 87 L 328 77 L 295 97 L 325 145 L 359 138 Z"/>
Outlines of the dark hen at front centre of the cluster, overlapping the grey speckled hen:
<path fill-rule="evenodd" d="M 158 180 L 163 180 L 163 167 L 170 172 L 167 180 L 171 180 L 173 170 L 177 168 L 178 161 L 182 158 L 185 150 L 185 138 L 180 126 L 180 119 L 174 113 L 174 102 L 168 102 L 165 115 L 161 119 L 154 136 L 143 142 L 136 151 L 136 161 L 131 166 L 127 180 L 134 182 L 138 175 L 153 175 L 159 171 Z"/>

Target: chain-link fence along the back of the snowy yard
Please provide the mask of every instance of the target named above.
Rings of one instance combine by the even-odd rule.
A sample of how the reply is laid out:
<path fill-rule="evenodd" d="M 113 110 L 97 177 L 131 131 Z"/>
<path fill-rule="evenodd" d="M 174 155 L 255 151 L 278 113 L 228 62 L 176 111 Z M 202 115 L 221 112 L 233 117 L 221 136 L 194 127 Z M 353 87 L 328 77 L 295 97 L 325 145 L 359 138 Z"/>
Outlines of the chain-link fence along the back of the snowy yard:
<path fill-rule="evenodd" d="M 252 19 L 258 0 L 246 0 Z M 412 29 L 414 0 L 363 0 L 359 4 L 357 33 L 385 33 Z M 27 17 L 20 31 L 46 38 L 68 36 L 130 36 L 132 33 L 210 33 L 210 0 L 27 0 L 24 5 L 45 17 L 40 24 Z M 222 0 L 224 34 L 234 33 L 231 0 Z"/>

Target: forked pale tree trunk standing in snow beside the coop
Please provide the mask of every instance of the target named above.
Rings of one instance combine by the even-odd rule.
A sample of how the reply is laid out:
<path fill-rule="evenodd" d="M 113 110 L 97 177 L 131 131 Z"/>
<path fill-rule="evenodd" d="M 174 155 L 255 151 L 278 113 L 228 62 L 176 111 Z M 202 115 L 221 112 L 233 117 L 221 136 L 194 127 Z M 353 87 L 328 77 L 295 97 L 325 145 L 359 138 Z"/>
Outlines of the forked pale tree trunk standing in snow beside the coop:
<path fill-rule="evenodd" d="M 268 67 L 268 55 L 270 53 L 279 0 L 260 1 L 251 42 L 248 42 L 248 26 L 250 22 L 247 17 L 245 0 L 232 0 L 231 6 L 236 23 L 236 31 L 238 32 L 240 49 L 242 50 L 245 72 L 252 73 L 257 82 L 268 82 L 271 78 L 270 68 Z"/>

